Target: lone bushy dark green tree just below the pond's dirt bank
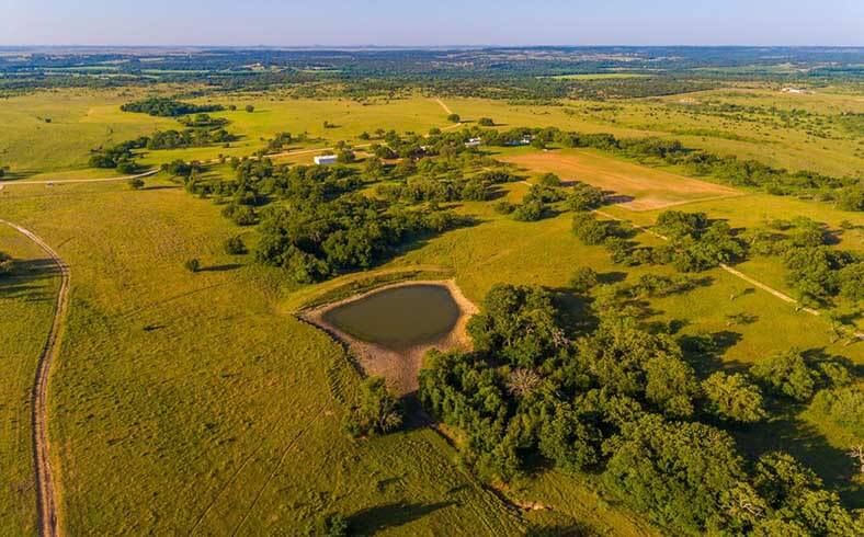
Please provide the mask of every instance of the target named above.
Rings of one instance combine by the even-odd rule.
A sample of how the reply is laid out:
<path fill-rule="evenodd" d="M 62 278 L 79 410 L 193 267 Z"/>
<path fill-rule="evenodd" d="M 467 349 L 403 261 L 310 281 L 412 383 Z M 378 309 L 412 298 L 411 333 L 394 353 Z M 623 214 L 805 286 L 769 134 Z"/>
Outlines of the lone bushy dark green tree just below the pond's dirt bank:
<path fill-rule="evenodd" d="M 402 425 L 401 403 L 380 377 L 370 377 L 360 389 L 360 403 L 345 415 L 343 427 L 352 436 L 374 436 Z"/>

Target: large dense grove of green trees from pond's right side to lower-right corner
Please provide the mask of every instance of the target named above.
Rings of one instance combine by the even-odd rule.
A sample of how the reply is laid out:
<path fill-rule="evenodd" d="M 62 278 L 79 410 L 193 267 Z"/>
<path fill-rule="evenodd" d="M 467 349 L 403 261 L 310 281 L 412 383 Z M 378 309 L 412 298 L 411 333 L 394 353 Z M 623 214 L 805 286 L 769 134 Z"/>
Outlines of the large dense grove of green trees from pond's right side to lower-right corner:
<path fill-rule="evenodd" d="M 432 352 L 420 375 L 422 403 L 464 435 L 464 462 L 505 481 L 549 466 L 593 473 L 679 535 L 861 535 L 862 521 L 810 469 L 781 452 L 747 458 L 729 434 L 777 404 L 810 401 L 827 420 L 861 426 L 849 365 L 789 351 L 700 378 L 678 341 L 621 304 L 682 288 L 655 279 L 600 294 L 596 325 L 581 331 L 549 292 L 493 287 L 468 323 L 475 351 Z M 590 288 L 590 270 L 575 282 Z M 851 415 L 859 423 L 844 422 Z"/>

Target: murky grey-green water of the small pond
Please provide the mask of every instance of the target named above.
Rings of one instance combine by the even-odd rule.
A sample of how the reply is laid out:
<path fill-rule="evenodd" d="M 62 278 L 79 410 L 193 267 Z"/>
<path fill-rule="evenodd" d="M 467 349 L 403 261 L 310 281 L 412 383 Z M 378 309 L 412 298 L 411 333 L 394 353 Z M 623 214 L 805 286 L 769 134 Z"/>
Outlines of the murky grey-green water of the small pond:
<path fill-rule="evenodd" d="M 459 313 L 450 289 L 418 284 L 384 289 L 338 306 L 323 319 L 359 340 L 398 351 L 446 335 Z"/>

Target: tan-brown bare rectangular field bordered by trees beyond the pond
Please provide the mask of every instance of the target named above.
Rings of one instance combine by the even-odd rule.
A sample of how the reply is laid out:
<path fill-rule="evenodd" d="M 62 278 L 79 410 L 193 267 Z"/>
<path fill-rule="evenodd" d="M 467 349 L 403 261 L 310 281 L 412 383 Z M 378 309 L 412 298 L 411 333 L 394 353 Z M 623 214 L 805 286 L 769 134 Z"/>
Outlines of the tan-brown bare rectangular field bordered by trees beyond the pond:
<path fill-rule="evenodd" d="M 501 160 L 537 173 L 553 172 L 562 181 L 582 181 L 619 197 L 629 210 L 652 210 L 741 192 L 662 170 L 623 162 L 594 151 L 556 150 L 510 155 Z"/>

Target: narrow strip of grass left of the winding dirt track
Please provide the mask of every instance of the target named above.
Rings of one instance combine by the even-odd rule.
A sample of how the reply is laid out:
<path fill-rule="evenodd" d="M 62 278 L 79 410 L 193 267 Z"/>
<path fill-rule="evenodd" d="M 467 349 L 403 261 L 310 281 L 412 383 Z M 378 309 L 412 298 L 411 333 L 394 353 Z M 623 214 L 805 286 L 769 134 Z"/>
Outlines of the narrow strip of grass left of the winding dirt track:
<path fill-rule="evenodd" d="M 15 274 L 0 278 L 0 533 L 35 532 L 31 390 L 59 286 L 50 259 L 30 239 L 0 224 L 0 251 Z"/>

